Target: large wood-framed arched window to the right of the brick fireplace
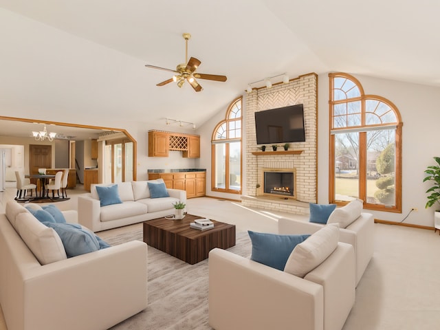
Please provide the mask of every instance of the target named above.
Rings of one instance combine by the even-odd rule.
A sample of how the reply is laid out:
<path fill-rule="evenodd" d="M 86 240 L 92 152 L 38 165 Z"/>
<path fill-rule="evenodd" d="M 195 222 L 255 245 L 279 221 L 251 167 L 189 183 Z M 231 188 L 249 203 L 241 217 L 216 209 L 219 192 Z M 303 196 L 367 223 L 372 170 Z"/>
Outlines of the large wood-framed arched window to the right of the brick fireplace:
<path fill-rule="evenodd" d="M 349 74 L 330 78 L 329 201 L 401 212 L 401 127 L 397 107 L 365 95 Z"/>

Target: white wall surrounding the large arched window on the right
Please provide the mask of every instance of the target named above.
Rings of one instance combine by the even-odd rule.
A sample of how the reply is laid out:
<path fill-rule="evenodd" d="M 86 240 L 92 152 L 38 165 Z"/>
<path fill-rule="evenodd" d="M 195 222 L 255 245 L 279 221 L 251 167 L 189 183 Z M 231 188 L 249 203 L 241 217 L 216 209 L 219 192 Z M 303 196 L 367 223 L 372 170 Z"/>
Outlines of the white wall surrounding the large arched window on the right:
<path fill-rule="evenodd" d="M 395 104 L 404 122 L 402 133 L 402 213 L 368 211 L 376 219 L 433 226 L 434 209 L 425 209 L 428 183 L 422 183 L 426 166 L 440 156 L 437 146 L 440 122 L 440 88 L 353 74 L 365 94 L 387 98 Z M 329 76 L 321 74 L 318 98 L 318 202 L 329 201 Z"/>

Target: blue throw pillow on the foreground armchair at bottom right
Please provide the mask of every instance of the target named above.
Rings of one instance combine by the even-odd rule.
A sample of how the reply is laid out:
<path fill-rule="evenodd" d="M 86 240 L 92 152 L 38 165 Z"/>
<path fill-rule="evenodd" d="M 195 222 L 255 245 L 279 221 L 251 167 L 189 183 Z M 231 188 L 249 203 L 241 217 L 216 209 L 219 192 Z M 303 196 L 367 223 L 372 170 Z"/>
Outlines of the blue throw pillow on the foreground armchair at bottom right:
<path fill-rule="evenodd" d="M 290 254 L 297 244 L 310 235 L 278 235 L 248 230 L 252 241 L 251 260 L 277 270 L 284 270 Z"/>

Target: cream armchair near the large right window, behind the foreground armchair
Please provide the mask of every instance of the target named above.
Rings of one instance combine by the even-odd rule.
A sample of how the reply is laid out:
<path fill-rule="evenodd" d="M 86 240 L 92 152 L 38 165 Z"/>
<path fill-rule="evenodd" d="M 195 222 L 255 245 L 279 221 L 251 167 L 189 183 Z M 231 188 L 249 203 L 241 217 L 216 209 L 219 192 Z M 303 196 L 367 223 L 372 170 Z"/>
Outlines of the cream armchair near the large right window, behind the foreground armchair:
<path fill-rule="evenodd" d="M 336 210 L 338 210 L 337 212 L 343 212 L 344 208 L 337 208 Z M 339 239 L 343 243 L 353 245 L 355 250 L 356 286 L 358 286 L 374 252 L 374 219 L 373 214 L 365 212 L 355 214 L 353 217 L 355 218 L 353 222 L 345 228 L 340 228 Z M 338 222 L 338 219 L 334 219 L 334 222 Z M 323 224 L 320 223 L 309 222 L 308 215 L 294 215 L 292 218 L 278 219 L 279 234 L 313 234 L 320 230 L 322 226 Z"/>

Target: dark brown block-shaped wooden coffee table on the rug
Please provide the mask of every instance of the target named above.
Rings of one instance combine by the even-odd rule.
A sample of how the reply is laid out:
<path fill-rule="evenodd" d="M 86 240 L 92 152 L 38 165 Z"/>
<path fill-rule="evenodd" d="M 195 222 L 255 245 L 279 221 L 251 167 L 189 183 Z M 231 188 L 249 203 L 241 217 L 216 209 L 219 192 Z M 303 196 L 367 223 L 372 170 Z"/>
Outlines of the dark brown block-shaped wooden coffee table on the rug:
<path fill-rule="evenodd" d="M 194 265 L 208 258 L 213 248 L 227 249 L 235 245 L 235 225 L 210 219 L 214 228 L 197 230 L 190 223 L 201 219 L 186 214 L 181 220 L 159 218 L 144 222 L 144 242 L 171 256 Z"/>

